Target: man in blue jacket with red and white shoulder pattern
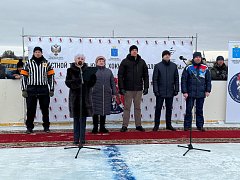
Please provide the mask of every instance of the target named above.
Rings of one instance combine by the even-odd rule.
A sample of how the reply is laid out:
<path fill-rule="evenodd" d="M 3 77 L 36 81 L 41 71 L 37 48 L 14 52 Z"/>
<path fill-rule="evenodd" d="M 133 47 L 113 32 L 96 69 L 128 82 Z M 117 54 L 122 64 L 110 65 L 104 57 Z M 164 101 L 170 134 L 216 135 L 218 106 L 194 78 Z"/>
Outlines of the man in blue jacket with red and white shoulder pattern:
<path fill-rule="evenodd" d="M 209 69 L 202 62 L 200 52 L 193 54 L 192 64 L 188 65 L 181 79 L 181 89 L 186 99 L 186 114 L 184 118 L 184 130 L 187 131 L 192 126 L 192 108 L 196 102 L 196 126 L 199 131 L 205 131 L 203 128 L 203 104 L 205 97 L 211 92 L 211 75 Z"/>

